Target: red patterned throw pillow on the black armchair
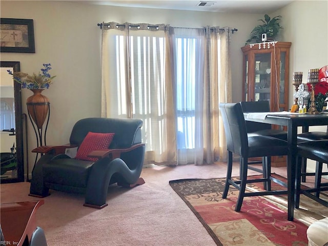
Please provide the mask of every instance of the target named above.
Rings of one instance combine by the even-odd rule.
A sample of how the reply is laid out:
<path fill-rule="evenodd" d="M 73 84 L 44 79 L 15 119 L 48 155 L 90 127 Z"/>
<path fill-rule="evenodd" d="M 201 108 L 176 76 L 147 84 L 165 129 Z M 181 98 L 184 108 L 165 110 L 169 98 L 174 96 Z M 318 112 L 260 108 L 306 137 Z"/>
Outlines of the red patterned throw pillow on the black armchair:
<path fill-rule="evenodd" d="M 88 157 L 94 150 L 108 149 L 115 133 L 88 132 L 77 150 L 75 159 L 97 161 L 96 157 Z"/>

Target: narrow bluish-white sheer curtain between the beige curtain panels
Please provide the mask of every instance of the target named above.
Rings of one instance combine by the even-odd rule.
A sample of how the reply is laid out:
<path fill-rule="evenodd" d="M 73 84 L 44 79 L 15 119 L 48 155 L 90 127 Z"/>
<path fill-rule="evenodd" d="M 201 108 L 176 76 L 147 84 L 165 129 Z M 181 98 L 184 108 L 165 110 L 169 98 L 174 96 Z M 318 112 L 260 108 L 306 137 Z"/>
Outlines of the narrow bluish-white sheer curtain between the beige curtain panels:
<path fill-rule="evenodd" d="M 178 163 L 201 165 L 206 32 L 203 28 L 172 29 Z"/>

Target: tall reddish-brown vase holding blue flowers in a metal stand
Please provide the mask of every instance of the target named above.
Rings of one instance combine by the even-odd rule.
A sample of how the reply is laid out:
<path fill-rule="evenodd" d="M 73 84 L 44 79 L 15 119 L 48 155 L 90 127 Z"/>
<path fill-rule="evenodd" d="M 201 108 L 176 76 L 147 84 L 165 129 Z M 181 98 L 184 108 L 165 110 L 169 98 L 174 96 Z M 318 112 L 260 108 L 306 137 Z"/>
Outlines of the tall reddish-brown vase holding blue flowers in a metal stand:
<path fill-rule="evenodd" d="M 27 98 L 26 105 L 29 114 L 35 122 L 38 129 L 41 129 L 49 110 L 49 99 L 42 95 L 44 89 L 31 89 L 33 95 Z"/>

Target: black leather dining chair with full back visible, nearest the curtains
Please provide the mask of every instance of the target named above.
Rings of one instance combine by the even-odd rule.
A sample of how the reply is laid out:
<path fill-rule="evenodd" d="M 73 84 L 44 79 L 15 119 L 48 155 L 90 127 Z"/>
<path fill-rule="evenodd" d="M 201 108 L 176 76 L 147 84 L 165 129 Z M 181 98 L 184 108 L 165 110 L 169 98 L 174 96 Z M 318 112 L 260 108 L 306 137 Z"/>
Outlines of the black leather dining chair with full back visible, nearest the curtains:
<path fill-rule="evenodd" d="M 227 179 L 222 198 L 227 198 L 230 185 L 239 190 L 239 196 L 235 211 L 240 211 L 244 197 L 263 196 L 263 195 L 281 195 L 288 194 L 286 190 L 271 191 L 271 181 L 285 186 L 283 182 L 271 176 L 271 156 L 282 156 L 288 154 L 288 144 L 286 141 L 270 137 L 254 135 L 248 136 L 246 122 L 243 116 L 241 105 L 232 103 L 220 103 L 219 105 L 224 131 L 227 139 L 228 151 L 228 169 Z M 231 177 L 233 154 L 241 157 L 239 180 Z M 247 179 L 248 177 L 248 158 L 264 157 L 263 178 Z M 264 182 L 267 183 L 267 191 L 245 192 L 248 183 Z"/>

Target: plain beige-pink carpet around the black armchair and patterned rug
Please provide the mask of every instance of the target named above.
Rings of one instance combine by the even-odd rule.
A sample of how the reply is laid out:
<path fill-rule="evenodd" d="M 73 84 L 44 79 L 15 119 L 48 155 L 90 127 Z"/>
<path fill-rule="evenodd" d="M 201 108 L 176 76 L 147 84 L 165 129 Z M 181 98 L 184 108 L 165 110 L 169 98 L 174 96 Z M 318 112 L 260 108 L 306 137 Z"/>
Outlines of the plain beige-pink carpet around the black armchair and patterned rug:
<path fill-rule="evenodd" d="M 276 168 L 273 172 L 283 175 L 285 169 Z M 236 168 L 233 175 L 238 174 Z M 171 189 L 169 180 L 224 177 L 225 163 L 145 168 L 141 176 L 145 185 L 133 189 L 111 186 L 108 206 L 102 210 L 83 207 L 83 195 L 51 191 L 36 213 L 48 245 L 216 245 Z M 1 203 L 35 200 L 28 196 L 29 185 L 28 182 L 0 185 Z"/>

